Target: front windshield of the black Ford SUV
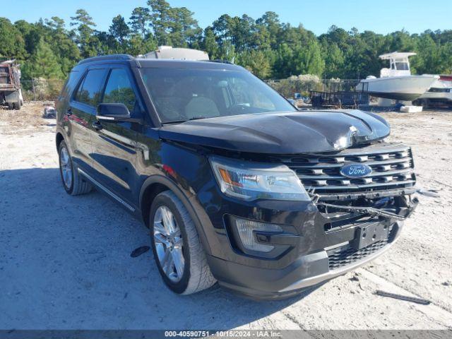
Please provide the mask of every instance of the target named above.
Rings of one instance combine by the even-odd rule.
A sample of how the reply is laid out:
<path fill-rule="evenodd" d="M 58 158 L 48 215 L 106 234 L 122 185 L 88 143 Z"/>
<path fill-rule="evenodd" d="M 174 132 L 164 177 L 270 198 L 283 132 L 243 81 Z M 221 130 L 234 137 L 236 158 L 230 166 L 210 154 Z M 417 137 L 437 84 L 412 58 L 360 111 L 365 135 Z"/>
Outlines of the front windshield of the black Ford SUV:
<path fill-rule="evenodd" d="M 141 69 L 162 122 L 295 111 L 249 72 L 223 69 Z"/>

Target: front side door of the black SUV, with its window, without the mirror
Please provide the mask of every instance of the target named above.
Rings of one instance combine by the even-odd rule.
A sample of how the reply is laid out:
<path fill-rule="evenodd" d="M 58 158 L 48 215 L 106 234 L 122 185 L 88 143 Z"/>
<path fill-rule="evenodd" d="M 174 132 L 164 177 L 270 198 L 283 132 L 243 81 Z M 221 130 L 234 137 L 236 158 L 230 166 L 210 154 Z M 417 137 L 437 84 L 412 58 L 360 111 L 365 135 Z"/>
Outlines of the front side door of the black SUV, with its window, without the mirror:
<path fill-rule="evenodd" d="M 105 103 L 126 105 L 131 118 L 143 118 L 143 105 L 133 76 L 126 66 L 109 70 L 102 97 Z M 109 190 L 136 205 L 138 194 L 133 194 L 138 182 L 136 174 L 136 139 L 142 125 L 136 122 L 97 121 L 98 129 L 93 134 L 93 165 L 96 177 Z"/>

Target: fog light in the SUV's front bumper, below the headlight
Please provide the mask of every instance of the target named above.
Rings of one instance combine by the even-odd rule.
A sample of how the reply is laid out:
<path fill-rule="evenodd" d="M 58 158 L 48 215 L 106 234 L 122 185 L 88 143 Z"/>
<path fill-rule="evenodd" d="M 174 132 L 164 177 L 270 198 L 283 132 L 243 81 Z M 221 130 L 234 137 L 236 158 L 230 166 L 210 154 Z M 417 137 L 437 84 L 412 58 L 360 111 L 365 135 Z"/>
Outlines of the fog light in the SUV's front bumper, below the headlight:
<path fill-rule="evenodd" d="M 235 225 L 239 233 L 240 240 L 245 249 L 259 252 L 269 252 L 275 248 L 272 245 L 261 244 L 256 241 L 254 237 L 254 231 L 281 233 L 283 229 L 274 224 L 268 224 L 266 222 L 258 222 L 246 219 L 236 219 Z"/>

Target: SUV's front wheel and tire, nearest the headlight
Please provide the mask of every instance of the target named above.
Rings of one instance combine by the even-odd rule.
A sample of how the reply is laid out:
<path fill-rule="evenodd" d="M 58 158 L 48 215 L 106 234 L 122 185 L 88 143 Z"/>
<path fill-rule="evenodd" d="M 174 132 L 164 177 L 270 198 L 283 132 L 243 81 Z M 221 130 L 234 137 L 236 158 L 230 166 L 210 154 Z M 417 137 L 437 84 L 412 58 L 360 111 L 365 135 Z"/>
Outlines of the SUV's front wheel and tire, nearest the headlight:
<path fill-rule="evenodd" d="M 194 222 L 172 191 L 155 197 L 150 234 L 155 263 L 170 290 L 190 295 L 215 284 Z"/>

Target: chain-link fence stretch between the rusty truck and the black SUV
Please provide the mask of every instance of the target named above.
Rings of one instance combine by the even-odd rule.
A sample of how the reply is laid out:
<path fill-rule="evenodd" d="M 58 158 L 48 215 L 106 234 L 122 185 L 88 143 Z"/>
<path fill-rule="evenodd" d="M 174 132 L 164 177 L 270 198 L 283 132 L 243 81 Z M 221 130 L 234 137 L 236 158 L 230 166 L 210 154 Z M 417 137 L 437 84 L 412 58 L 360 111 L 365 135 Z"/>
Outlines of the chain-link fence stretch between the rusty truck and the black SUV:
<path fill-rule="evenodd" d="M 21 80 L 22 96 L 25 101 L 54 101 L 57 100 L 64 80 Z"/>

